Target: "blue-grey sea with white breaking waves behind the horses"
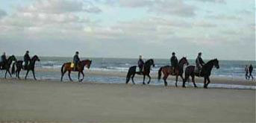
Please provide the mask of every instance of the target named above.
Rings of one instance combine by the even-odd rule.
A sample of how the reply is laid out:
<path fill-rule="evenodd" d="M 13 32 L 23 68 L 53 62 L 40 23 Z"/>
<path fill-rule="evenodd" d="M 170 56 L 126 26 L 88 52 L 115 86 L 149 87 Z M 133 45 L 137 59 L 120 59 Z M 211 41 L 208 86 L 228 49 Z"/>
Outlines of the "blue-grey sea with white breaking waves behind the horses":
<path fill-rule="evenodd" d="M 22 57 L 17 57 L 18 60 L 22 60 Z M 131 58 L 90 58 L 81 57 L 81 60 L 90 59 L 93 60 L 90 70 L 98 70 L 103 72 L 128 72 L 130 66 L 137 65 L 137 59 Z M 36 68 L 43 69 L 60 69 L 63 63 L 72 61 L 72 57 L 40 57 L 40 62 L 36 63 Z M 195 60 L 188 60 L 190 65 L 195 65 Z M 207 62 L 208 60 L 205 60 Z M 246 65 L 251 64 L 256 66 L 255 61 L 241 61 L 241 60 L 219 60 L 219 69 L 213 69 L 212 75 L 216 77 L 225 78 L 245 78 L 244 68 Z M 170 65 L 169 59 L 154 59 L 155 67 L 152 67 L 152 74 L 156 74 L 161 66 Z M 254 72 L 255 73 L 255 72 Z M 4 75 L 4 71 L 0 73 L 1 78 Z M 24 77 L 25 72 L 21 73 L 21 77 Z M 41 80 L 60 80 L 60 72 L 36 72 L 36 76 Z M 8 77 L 8 76 L 7 76 Z M 32 78 L 32 74 L 29 74 L 29 78 Z M 77 81 L 77 73 L 72 74 L 74 81 Z M 68 80 L 67 75 L 63 78 Z M 125 83 L 125 78 L 121 77 L 106 77 L 106 76 L 85 76 L 85 81 L 91 82 L 104 82 L 104 83 Z M 142 81 L 142 80 L 137 80 Z M 157 84 L 157 80 L 152 80 L 153 84 Z M 163 83 L 161 83 L 163 84 Z"/>

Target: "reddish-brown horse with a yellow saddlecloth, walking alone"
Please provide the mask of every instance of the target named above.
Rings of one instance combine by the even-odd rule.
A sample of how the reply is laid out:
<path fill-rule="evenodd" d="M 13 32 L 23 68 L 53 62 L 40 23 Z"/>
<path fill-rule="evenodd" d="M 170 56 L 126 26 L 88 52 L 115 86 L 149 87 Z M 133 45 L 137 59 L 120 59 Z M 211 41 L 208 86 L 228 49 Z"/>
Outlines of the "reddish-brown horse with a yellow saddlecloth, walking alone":
<path fill-rule="evenodd" d="M 92 60 L 81 60 L 77 65 L 78 69 L 76 71 L 71 67 L 71 63 L 64 63 L 63 66 L 61 67 L 60 81 L 62 81 L 63 75 L 65 75 L 65 73 L 67 71 L 69 72 L 69 81 L 72 81 L 72 79 L 70 77 L 71 72 L 78 72 L 78 81 L 79 82 L 83 81 L 84 80 L 84 66 L 86 66 L 87 69 L 90 69 L 91 63 L 92 63 Z M 83 75 L 83 78 L 81 80 L 80 80 L 80 73 Z"/>

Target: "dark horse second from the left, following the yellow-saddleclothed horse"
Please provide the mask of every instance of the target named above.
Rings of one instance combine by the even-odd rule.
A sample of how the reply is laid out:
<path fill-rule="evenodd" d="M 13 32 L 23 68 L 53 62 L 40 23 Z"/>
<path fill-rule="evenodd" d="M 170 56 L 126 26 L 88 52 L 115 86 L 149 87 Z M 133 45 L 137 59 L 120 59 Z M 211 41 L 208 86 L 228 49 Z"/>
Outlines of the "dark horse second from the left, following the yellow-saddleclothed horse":
<path fill-rule="evenodd" d="M 16 78 L 19 78 L 19 72 L 22 69 L 24 69 L 24 70 L 27 70 L 27 73 L 25 75 L 25 80 L 27 79 L 28 72 L 30 72 L 30 71 L 32 71 L 32 73 L 33 73 L 34 80 L 37 80 L 36 76 L 34 75 L 34 66 L 35 66 L 36 61 L 40 61 L 40 59 L 39 59 L 39 57 L 37 57 L 37 55 L 34 55 L 34 57 L 31 58 L 31 60 L 30 60 L 30 62 L 28 64 L 27 69 L 24 69 L 24 67 L 22 66 L 23 61 L 22 60 L 18 60 L 16 63 L 13 63 L 12 74 L 15 73 L 16 74 Z M 16 65 L 16 70 L 15 70 L 15 65 Z"/>

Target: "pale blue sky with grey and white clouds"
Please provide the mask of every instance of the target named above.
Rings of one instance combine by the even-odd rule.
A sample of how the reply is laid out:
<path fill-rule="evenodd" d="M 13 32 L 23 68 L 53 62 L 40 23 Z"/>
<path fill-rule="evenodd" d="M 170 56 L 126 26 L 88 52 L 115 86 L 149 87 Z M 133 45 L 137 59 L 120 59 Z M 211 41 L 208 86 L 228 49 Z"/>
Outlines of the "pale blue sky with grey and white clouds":
<path fill-rule="evenodd" d="M 255 60 L 253 0 L 0 0 L 0 52 Z"/>

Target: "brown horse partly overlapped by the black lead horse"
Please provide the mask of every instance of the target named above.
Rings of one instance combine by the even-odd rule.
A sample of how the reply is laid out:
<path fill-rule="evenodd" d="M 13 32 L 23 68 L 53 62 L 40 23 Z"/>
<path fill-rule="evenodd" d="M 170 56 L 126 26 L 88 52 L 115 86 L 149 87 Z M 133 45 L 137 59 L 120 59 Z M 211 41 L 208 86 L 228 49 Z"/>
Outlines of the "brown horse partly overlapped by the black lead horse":
<path fill-rule="evenodd" d="M 181 60 L 178 62 L 178 66 L 175 68 L 175 72 L 173 72 L 172 66 L 160 67 L 160 69 L 158 70 L 158 81 L 160 80 L 162 72 L 163 72 L 164 86 L 167 86 L 166 79 L 168 78 L 168 76 L 169 75 L 175 75 L 176 76 L 175 86 L 177 86 L 178 76 L 180 76 L 182 78 L 182 81 L 184 81 L 184 78 L 182 76 L 184 65 L 189 65 L 186 57 L 182 57 Z"/>

